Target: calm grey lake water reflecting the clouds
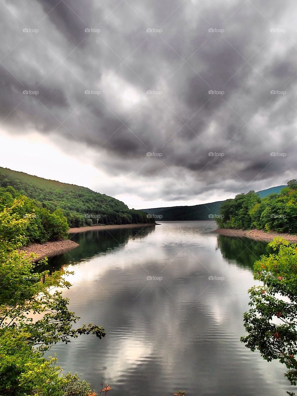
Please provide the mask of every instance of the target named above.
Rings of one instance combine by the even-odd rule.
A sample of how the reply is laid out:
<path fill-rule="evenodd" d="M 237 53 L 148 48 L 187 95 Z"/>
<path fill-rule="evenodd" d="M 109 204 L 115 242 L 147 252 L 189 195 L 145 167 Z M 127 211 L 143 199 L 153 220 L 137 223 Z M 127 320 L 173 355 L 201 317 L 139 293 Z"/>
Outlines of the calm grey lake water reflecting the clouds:
<path fill-rule="evenodd" d="M 50 260 L 75 274 L 64 291 L 80 324 L 107 335 L 57 344 L 65 371 L 83 373 L 110 396 L 280 396 L 293 391 L 286 367 L 265 362 L 239 339 L 253 262 L 266 243 L 218 236 L 215 222 L 90 231 Z"/>

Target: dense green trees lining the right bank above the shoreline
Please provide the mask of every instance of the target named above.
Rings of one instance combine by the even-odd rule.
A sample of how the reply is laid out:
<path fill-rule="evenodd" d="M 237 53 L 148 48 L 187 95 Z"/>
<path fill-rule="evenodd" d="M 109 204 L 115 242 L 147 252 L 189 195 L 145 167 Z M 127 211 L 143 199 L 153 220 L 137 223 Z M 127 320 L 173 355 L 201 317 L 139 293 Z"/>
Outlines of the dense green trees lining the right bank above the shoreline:
<path fill-rule="evenodd" d="M 217 224 L 221 228 L 262 229 L 297 234 L 297 181 L 279 194 L 260 198 L 255 191 L 223 202 Z"/>

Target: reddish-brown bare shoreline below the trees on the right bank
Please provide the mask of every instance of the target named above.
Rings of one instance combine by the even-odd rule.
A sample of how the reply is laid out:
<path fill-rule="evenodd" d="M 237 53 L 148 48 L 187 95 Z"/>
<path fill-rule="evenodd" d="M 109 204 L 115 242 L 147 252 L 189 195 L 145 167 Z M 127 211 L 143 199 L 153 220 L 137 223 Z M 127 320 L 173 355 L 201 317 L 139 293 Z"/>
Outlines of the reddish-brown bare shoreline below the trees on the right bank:
<path fill-rule="evenodd" d="M 263 230 L 236 230 L 232 228 L 217 228 L 214 230 L 217 234 L 225 236 L 246 236 L 254 240 L 272 241 L 274 238 L 281 236 L 282 238 L 290 241 L 297 242 L 297 235 L 284 234 L 282 232 L 265 232 Z"/>

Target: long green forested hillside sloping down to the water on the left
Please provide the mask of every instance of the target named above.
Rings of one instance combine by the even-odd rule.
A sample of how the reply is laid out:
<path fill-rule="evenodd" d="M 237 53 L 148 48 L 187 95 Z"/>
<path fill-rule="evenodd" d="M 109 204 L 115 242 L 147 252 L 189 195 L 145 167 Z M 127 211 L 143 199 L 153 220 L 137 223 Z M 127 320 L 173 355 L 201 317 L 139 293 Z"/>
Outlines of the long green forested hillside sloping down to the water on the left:
<path fill-rule="evenodd" d="M 0 186 L 11 186 L 52 212 L 62 209 L 69 227 L 154 222 L 154 219 L 147 218 L 147 213 L 129 209 L 123 202 L 89 188 L 47 180 L 8 168 L 0 168 Z"/>

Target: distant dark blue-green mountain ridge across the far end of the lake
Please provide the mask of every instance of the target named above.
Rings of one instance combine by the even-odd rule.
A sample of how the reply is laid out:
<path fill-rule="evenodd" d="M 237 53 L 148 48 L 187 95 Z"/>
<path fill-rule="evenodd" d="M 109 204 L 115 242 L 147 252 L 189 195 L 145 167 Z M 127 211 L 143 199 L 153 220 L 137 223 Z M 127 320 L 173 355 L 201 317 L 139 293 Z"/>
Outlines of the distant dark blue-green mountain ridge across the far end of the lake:
<path fill-rule="evenodd" d="M 279 194 L 284 187 L 287 186 L 282 185 L 267 188 L 266 190 L 257 191 L 257 194 L 259 194 L 261 198 L 275 192 Z M 219 208 L 223 202 L 225 201 L 209 202 L 194 206 L 170 206 L 168 208 L 150 208 L 140 210 L 148 213 L 152 217 L 155 217 L 155 220 L 157 221 L 216 220 L 216 216 L 219 214 Z"/>

